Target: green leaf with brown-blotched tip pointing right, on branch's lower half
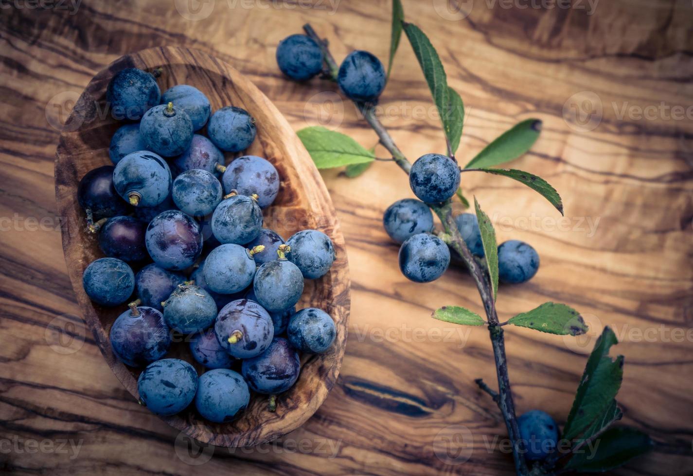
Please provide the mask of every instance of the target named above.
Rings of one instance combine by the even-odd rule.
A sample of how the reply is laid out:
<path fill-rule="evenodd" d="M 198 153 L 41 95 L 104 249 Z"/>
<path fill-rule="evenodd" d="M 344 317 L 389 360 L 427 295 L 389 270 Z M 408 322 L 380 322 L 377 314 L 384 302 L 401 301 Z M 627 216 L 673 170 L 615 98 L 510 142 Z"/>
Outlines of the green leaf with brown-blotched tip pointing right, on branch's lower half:
<path fill-rule="evenodd" d="M 508 324 L 559 336 L 581 336 L 588 330 L 577 311 L 565 304 L 553 302 L 545 302 L 532 311 L 518 314 L 510 318 Z"/>

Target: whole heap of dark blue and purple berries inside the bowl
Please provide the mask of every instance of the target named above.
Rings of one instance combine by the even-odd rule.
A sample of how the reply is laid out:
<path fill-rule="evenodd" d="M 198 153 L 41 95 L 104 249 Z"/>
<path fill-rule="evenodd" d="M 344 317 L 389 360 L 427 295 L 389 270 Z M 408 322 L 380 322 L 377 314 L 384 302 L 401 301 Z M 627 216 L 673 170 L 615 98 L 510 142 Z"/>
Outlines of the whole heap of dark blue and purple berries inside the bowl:
<path fill-rule="evenodd" d="M 330 349 L 330 315 L 295 306 L 304 280 L 331 268 L 332 241 L 318 230 L 284 241 L 263 228 L 277 170 L 258 156 L 225 165 L 224 152 L 255 139 L 247 111 L 211 113 L 207 97 L 186 84 L 161 94 L 137 68 L 112 78 L 107 101 L 126 122 L 110 144 L 114 165 L 91 170 L 78 187 L 105 255 L 87 266 L 84 289 L 101 306 L 135 299 L 112 324 L 110 342 L 125 365 L 146 366 L 144 405 L 171 415 L 194 400 L 205 419 L 231 421 L 251 392 L 274 396 L 294 385 L 299 353 Z M 164 358 L 173 333 L 189 336 L 191 358 L 207 369 L 199 378 L 191 363 Z"/>

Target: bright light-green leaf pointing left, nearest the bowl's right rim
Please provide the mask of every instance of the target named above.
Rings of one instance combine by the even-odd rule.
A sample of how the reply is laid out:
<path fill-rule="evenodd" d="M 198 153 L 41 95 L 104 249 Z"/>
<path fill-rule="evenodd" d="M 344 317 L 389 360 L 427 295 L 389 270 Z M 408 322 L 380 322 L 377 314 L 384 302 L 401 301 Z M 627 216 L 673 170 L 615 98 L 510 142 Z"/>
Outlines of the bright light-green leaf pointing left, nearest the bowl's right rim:
<path fill-rule="evenodd" d="M 321 126 L 306 127 L 296 134 L 319 169 L 369 163 L 376 158 L 351 137 Z"/>

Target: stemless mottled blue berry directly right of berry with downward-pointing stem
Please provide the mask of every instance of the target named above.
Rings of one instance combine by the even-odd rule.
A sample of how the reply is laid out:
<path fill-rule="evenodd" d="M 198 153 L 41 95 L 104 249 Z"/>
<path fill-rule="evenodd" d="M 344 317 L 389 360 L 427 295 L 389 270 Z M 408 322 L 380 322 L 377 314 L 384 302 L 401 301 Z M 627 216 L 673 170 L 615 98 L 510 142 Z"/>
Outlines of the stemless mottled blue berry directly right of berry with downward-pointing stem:
<path fill-rule="evenodd" d="M 192 217 L 204 217 L 221 201 L 221 183 L 206 170 L 188 170 L 175 178 L 171 194 L 182 212 Z"/>

